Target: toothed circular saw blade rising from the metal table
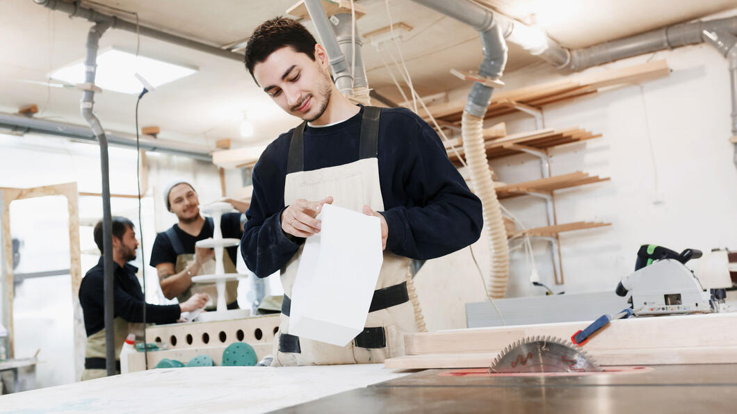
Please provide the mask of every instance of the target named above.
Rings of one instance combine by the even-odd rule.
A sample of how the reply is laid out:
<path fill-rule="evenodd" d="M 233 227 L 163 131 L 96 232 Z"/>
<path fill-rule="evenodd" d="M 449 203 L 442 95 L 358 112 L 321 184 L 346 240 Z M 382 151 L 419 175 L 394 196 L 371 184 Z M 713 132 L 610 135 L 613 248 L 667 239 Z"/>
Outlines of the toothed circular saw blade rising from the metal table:
<path fill-rule="evenodd" d="M 555 337 L 525 337 L 494 359 L 493 373 L 601 371 L 583 350 Z"/>

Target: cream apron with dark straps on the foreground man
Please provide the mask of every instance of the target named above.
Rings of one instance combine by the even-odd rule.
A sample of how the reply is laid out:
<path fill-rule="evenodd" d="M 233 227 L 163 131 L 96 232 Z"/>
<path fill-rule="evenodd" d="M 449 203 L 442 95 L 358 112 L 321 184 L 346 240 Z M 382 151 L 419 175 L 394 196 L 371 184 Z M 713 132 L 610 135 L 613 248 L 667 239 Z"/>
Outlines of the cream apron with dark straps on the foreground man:
<path fill-rule="evenodd" d="M 333 206 L 358 212 L 363 211 L 363 206 L 384 211 L 377 159 L 379 116 L 380 108 L 363 109 L 358 161 L 315 171 L 304 171 L 303 134 L 307 122 L 297 127 L 290 144 L 284 205 L 289 206 L 298 199 L 315 201 L 332 196 Z M 284 301 L 272 366 L 373 363 L 404 354 L 403 335 L 416 331 L 405 279 L 409 259 L 384 250 L 366 328 L 352 343 L 340 347 L 289 334 L 290 296 L 303 249 L 301 245 L 281 270 Z M 350 270 L 346 277 L 351 277 Z"/>

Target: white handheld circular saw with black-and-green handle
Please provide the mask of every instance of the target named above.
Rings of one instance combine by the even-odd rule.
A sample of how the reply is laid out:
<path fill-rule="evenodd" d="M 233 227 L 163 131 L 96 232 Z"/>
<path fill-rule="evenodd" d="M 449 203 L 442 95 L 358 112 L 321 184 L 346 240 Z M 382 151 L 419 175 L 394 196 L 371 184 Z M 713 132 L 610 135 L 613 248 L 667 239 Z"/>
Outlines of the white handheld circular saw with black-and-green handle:
<path fill-rule="evenodd" d="M 677 253 L 657 245 L 640 246 L 635 273 L 622 278 L 617 295 L 630 296 L 635 316 L 713 312 L 710 292 L 685 267 L 701 256 L 695 249 Z"/>

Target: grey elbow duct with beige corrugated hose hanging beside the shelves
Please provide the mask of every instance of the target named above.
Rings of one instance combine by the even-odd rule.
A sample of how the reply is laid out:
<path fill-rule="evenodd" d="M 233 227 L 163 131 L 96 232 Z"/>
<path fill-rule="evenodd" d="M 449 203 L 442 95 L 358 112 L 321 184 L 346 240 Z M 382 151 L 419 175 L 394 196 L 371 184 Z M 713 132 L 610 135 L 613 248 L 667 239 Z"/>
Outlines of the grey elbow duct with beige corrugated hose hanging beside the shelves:
<path fill-rule="evenodd" d="M 494 80 L 501 77 L 507 60 L 507 46 L 503 37 L 506 27 L 497 24 L 491 12 L 465 0 L 413 1 L 481 32 L 483 60 L 478 73 Z M 473 84 L 461 118 L 461 133 L 472 186 L 483 206 L 482 235 L 489 239 L 491 269 L 484 277 L 486 293 L 490 298 L 503 298 L 509 279 L 509 244 L 483 142 L 483 116 L 493 91 L 493 88 L 481 83 Z"/>

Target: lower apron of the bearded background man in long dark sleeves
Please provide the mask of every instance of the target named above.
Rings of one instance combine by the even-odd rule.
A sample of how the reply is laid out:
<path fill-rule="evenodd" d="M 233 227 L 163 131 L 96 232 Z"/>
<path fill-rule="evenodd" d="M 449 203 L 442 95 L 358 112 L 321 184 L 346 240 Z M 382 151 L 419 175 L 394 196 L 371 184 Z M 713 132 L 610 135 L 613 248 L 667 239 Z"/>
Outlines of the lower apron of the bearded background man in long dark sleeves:
<path fill-rule="evenodd" d="M 128 334 L 142 336 L 142 323 L 128 323 L 122 317 L 113 319 L 113 333 L 115 334 L 115 371 L 120 373 L 120 350 L 123 348 Z M 82 372 L 82 381 L 108 376 L 105 369 L 105 328 L 87 337 L 85 345 L 85 371 Z"/>

